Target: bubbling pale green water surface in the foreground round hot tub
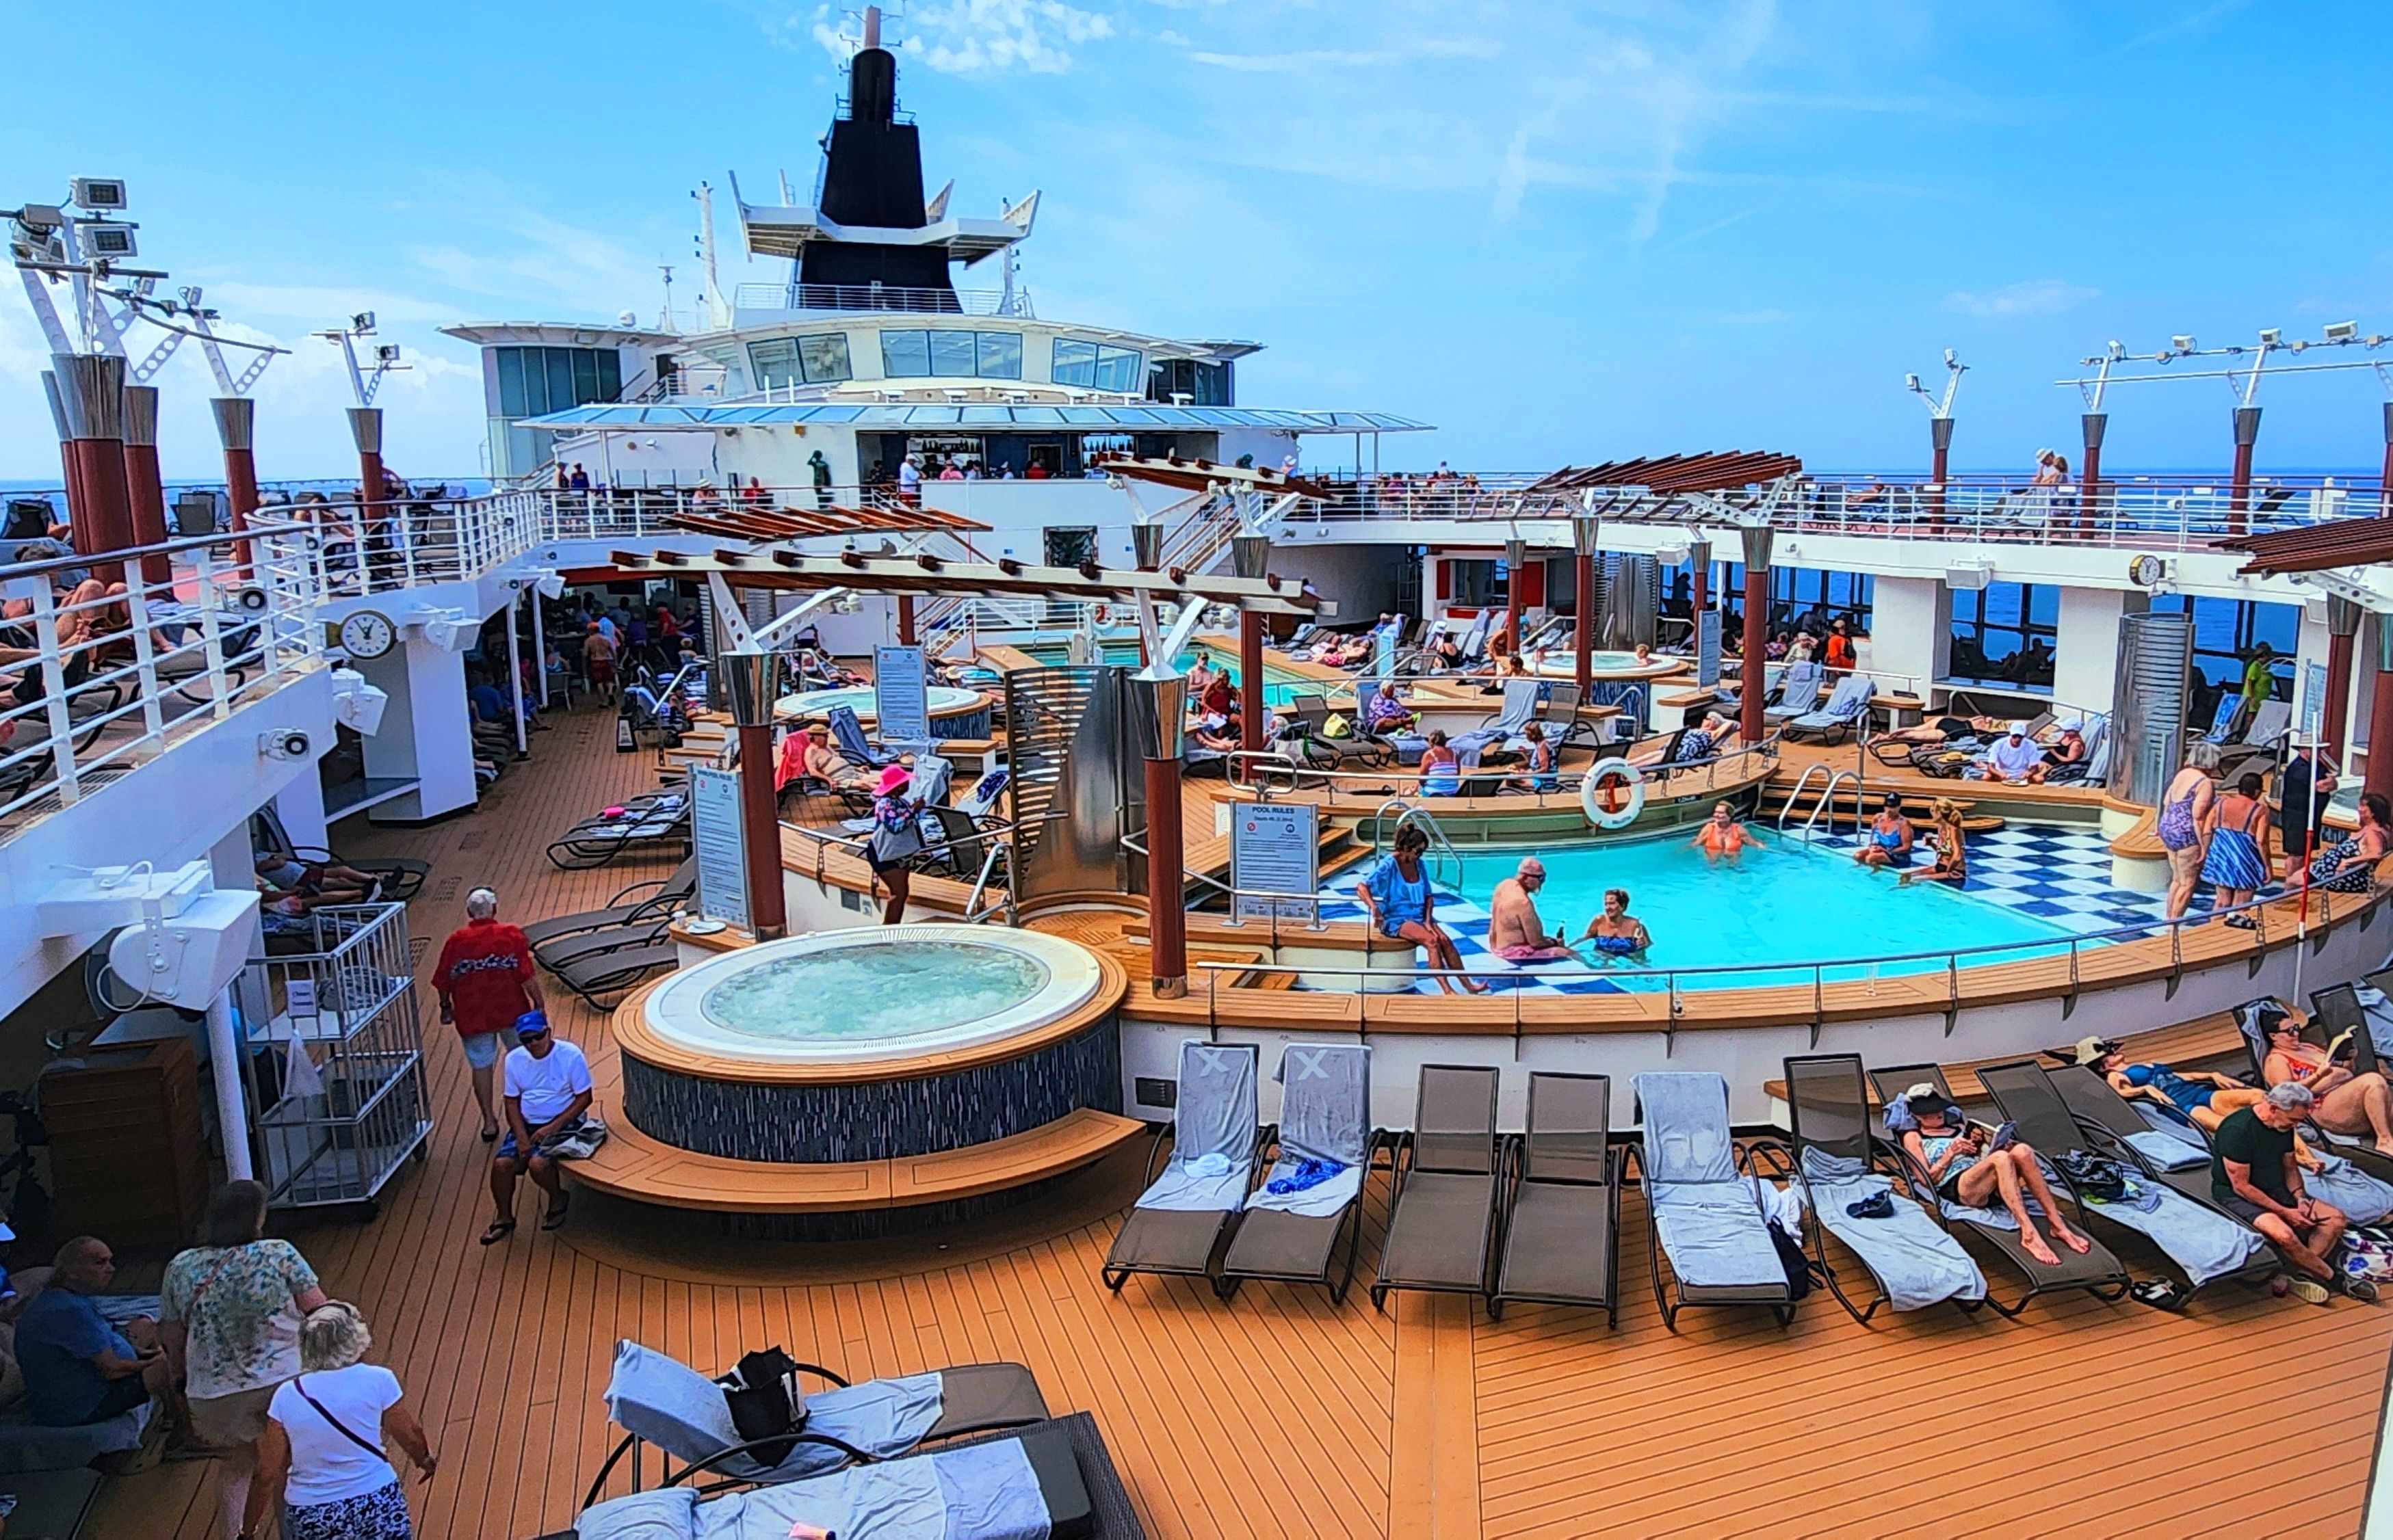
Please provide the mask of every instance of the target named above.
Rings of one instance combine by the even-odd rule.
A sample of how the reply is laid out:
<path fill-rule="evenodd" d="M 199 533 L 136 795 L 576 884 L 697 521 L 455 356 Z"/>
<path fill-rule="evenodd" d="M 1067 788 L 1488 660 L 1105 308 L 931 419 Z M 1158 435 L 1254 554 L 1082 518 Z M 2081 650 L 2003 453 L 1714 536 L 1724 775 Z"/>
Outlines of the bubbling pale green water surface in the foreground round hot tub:
<path fill-rule="evenodd" d="M 749 1038 L 854 1043 L 914 1038 L 1029 1002 L 1048 966 L 1005 947 L 890 942 L 833 947 L 742 968 L 699 1009 Z"/>

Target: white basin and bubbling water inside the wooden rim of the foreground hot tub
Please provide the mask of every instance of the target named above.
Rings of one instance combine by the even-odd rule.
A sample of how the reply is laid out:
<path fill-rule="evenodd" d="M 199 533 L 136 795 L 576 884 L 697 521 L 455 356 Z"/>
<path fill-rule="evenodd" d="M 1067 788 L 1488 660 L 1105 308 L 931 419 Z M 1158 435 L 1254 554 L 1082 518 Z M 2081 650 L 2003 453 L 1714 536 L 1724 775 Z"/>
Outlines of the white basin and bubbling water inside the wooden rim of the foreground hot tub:
<path fill-rule="evenodd" d="M 1027 1033 L 1086 1004 L 1103 973 L 1036 930 L 881 925 L 711 957 L 646 1002 L 672 1047 L 754 1064 L 864 1064 Z"/>

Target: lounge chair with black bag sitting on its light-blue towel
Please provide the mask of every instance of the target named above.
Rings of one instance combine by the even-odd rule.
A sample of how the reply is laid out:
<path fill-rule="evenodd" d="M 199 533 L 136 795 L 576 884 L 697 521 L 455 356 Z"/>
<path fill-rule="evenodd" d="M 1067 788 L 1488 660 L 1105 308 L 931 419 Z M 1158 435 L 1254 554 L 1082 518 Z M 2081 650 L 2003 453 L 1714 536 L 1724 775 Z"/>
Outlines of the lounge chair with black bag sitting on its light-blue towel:
<path fill-rule="evenodd" d="M 1048 1416 L 1039 1377 L 1019 1363 L 972 1363 L 926 1375 L 866 1380 L 864 1385 L 850 1385 L 816 1363 L 797 1368 L 804 1375 L 828 1380 L 830 1389 L 804 1397 L 806 1442 L 766 1461 L 759 1459 L 754 1444 L 778 1444 L 790 1435 L 742 1440 L 732 1425 L 730 1404 L 723 1399 L 725 1380 L 708 1380 L 687 1363 L 637 1342 L 617 1342 L 605 1406 L 608 1418 L 625 1430 L 625 1437 L 598 1466 L 598 1475 L 581 1499 L 584 1507 L 598 1502 L 608 1475 L 625 1456 L 632 1459 L 637 1483 L 646 1444 L 656 1444 L 665 1456 L 660 1485 L 677 1485 L 694 1475 L 727 1483 L 783 1483 L 821 1475 L 854 1459 L 895 1459 L 926 1442 L 1043 1423 Z M 682 1463 L 680 1473 L 672 1471 L 672 1461 Z"/>

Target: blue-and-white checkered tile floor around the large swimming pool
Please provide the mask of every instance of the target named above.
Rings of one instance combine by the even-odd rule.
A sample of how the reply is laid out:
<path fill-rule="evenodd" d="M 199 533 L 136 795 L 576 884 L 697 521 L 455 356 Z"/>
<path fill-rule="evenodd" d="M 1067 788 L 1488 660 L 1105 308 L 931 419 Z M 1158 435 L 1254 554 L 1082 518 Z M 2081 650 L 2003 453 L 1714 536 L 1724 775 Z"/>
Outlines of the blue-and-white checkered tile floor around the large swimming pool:
<path fill-rule="evenodd" d="M 1826 835 L 1816 844 L 1828 849 L 1852 849 L 1852 837 Z M 1354 902 L 1352 873 L 1342 887 L 1321 890 L 1321 918 L 1357 921 L 1362 904 Z M 2070 930 L 2077 935 L 2101 935 L 2135 925 L 2158 925 L 2163 899 L 2156 892 L 2127 892 L 2111 885 L 2111 842 L 2099 830 L 2065 825 L 2020 825 L 1969 835 L 1969 885 L 1974 899 L 2001 904 L 2020 913 Z M 2278 892 L 2276 887 L 2264 890 Z M 2204 904 L 2197 897 L 2197 911 Z M 1603 978 L 1555 978 L 1558 968 L 1582 964 L 1510 964 L 1488 952 L 1488 913 L 1479 904 L 1438 887 L 1438 923 L 1455 937 L 1462 966 L 1481 973 L 1496 990 L 1527 990 L 1534 995 L 1610 995 L 1622 985 Z M 1436 980 L 1414 985 L 1436 992 Z M 1658 988 L 1639 980 L 1634 988 Z"/>

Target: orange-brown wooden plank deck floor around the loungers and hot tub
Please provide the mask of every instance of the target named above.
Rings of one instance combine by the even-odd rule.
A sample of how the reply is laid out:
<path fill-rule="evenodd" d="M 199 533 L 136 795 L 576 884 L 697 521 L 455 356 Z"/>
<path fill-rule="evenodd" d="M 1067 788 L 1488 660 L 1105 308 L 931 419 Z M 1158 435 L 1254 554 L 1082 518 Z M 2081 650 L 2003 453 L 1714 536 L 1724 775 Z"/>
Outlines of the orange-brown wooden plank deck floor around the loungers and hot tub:
<path fill-rule="evenodd" d="M 639 789 L 610 720 L 567 717 L 474 815 L 335 844 L 424 854 L 419 937 L 495 882 L 517 918 L 579 909 L 663 866 L 555 873 L 546 839 Z M 596 1012 L 560 1004 L 577 1040 Z M 2027 1318 L 1938 1310 L 1857 1327 L 1807 1301 L 1689 1310 L 1663 1330 L 1642 1208 L 1622 1215 L 1618 1332 L 1601 1315 L 1460 1298 L 1371 1310 L 1247 1287 L 1232 1306 L 1098 1260 L 1139 1150 L 1036 1208 L 869 1246 L 732 1241 L 584 1196 L 481 1248 L 486 1148 L 462 1057 L 428 1026 L 440 1129 L 369 1224 L 292 1234 L 376 1327 L 443 1456 L 419 1533 L 524 1538 L 572 1521 L 605 1456 L 617 1337 L 701 1368 L 783 1344 L 850 1375 L 1029 1363 L 1055 1408 L 1094 1411 L 1149 1523 L 1177 1535 L 1888 1535 L 1943 1514 L 1993 1535 L 2355 1535 L 2393 1306 L 2312 1308 L 2228 1289 L 2187 1315 L 2091 1298 Z M 529 1188 L 526 1188 L 529 1191 Z M 1369 1277 L 1383 1184 L 1364 1239 Z M 2125 1251 L 2149 1272 L 2142 1253 Z M 2295 1368 L 2297 1365 L 2297 1368 Z M 2264 1454 L 2273 1452 L 2273 1454 Z M 2259 1475 L 2273 1468 L 2276 1475 Z M 103 1538 L 215 1535 L 208 1466 L 110 1483 Z"/>

